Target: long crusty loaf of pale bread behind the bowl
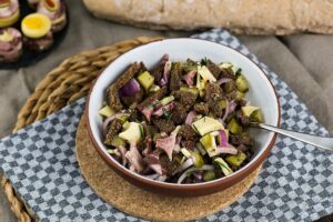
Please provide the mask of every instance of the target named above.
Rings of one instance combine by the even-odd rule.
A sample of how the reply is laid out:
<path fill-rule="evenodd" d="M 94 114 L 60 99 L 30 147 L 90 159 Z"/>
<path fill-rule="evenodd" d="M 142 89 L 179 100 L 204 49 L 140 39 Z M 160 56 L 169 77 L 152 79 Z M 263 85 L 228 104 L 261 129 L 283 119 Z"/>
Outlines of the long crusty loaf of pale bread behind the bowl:
<path fill-rule="evenodd" d="M 333 33 L 333 0 L 83 0 L 99 18 L 152 29 Z"/>

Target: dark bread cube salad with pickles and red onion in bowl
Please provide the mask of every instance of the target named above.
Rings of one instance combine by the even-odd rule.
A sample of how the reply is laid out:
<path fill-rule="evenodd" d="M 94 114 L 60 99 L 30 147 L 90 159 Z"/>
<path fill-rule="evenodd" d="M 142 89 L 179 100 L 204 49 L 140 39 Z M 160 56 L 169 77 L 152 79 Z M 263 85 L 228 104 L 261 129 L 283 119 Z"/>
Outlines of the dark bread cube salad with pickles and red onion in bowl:
<path fill-rule="evenodd" d="M 249 82 L 229 62 L 132 63 L 107 90 L 99 114 L 107 152 L 145 178 L 189 184 L 226 176 L 254 152 Z"/>

